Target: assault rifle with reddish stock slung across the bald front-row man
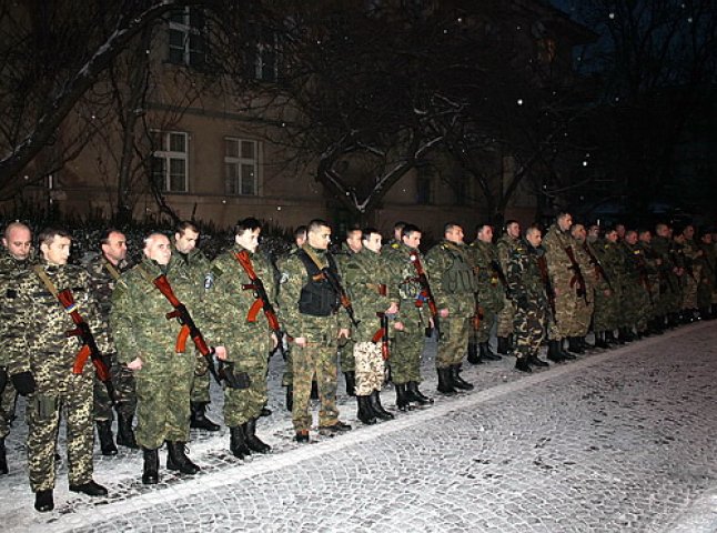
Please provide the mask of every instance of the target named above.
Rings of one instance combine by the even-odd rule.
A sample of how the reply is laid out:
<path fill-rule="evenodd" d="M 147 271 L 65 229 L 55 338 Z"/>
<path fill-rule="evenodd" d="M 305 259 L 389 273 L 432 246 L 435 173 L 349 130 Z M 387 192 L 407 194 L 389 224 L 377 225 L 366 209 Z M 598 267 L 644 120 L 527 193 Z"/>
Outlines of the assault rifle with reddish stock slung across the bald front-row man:
<path fill-rule="evenodd" d="M 216 383 L 221 385 L 222 378 L 223 378 L 226 384 L 232 389 L 248 389 L 249 375 L 246 375 L 245 373 L 242 372 L 242 375 L 240 378 L 240 376 L 234 376 L 233 373 L 228 374 L 226 371 L 224 371 L 223 375 L 220 376 L 220 374 L 216 372 L 216 369 L 214 368 L 214 360 L 212 358 L 214 355 L 214 349 L 210 348 L 206 344 L 206 341 L 204 340 L 204 335 L 202 335 L 202 332 L 194 323 L 192 315 L 186 309 L 186 305 L 180 302 L 176 295 L 174 294 L 174 291 L 172 290 L 172 285 L 170 285 L 170 282 L 166 279 L 166 275 L 164 274 L 158 275 L 156 278 L 154 278 L 152 283 L 154 283 L 154 286 L 159 289 L 159 291 L 170 302 L 172 308 L 174 308 L 174 311 L 166 313 L 166 320 L 176 319 L 176 321 L 182 325 L 182 329 L 180 330 L 180 333 L 176 336 L 176 345 L 174 346 L 174 351 L 176 353 L 183 353 L 184 350 L 186 349 L 186 339 L 191 336 L 192 341 L 194 342 L 194 345 L 196 346 L 199 352 L 206 361 L 208 369 L 212 374 L 212 378 L 214 378 L 214 380 L 216 381 Z M 230 368 L 230 371 L 231 371 L 231 368 Z M 230 381 L 232 379 L 234 380 L 234 383 Z"/>

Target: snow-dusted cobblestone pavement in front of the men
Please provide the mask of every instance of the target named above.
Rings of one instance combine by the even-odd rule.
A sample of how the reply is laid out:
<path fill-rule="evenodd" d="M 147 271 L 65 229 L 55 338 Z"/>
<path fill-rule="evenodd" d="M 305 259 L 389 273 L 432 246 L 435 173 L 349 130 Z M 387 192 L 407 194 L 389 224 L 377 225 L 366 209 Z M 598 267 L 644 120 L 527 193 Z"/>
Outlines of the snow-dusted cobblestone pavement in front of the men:
<path fill-rule="evenodd" d="M 424 392 L 435 391 L 431 348 Z M 475 391 L 373 426 L 343 396 L 354 431 L 299 445 L 274 360 L 274 414 L 257 432 L 272 454 L 238 461 L 225 431 L 195 433 L 201 474 L 162 470 L 156 487 L 139 482 L 139 452 L 98 455 L 110 496 L 69 493 L 61 467 L 48 515 L 32 510 L 17 465 L 20 425 L 0 479 L 3 531 L 717 531 L 715 322 L 532 375 L 513 363 L 466 368 Z M 382 398 L 393 406 L 392 391 Z"/>

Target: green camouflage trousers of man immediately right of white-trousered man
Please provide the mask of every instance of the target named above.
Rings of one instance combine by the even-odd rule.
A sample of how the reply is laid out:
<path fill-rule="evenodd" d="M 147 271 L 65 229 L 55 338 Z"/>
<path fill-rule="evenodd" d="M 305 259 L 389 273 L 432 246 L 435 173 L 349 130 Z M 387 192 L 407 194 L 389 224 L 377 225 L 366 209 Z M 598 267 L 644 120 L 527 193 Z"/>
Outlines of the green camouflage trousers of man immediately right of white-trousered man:
<path fill-rule="evenodd" d="M 405 303 L 408 311 L 396 320 L 403 323 L 403 331 L 395 331 L 395 342 L 391 346 L 391 380 L 396 385 L 414 381 L 421 383 L 421 354 L 425 345 L 427 320 L 422 320 L 422 311 L 416 309 L 413 300 Z M 413 309 L 411 309 L 413 308 Z"/>

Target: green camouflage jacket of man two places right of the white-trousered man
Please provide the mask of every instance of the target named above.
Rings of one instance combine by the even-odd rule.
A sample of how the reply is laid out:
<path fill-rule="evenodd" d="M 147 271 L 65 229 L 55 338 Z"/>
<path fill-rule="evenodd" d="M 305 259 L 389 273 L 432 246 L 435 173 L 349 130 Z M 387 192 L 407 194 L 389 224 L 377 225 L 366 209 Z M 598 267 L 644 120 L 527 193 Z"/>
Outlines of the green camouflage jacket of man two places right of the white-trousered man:
<path fill-rule="evenodd" d="M 438 309 L 450 316 L 469 318 L 475 313 L 478 285 L 473 273 L 468 247 L 442 241 L 426 253 L 424 265 Z"/>

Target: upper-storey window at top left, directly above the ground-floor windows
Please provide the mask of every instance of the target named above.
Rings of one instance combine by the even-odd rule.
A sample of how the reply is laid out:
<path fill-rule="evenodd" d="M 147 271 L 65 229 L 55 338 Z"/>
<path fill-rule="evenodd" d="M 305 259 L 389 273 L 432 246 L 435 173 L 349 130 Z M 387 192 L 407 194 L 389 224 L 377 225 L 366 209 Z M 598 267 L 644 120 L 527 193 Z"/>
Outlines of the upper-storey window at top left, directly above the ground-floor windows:
<path fill-rule="evenodd" d="M 178 9 L 170 14 L 169 61 L 188 67 L 206 62 L 204 13 L 199 8 Z"/>

